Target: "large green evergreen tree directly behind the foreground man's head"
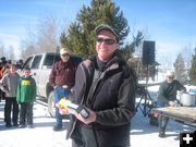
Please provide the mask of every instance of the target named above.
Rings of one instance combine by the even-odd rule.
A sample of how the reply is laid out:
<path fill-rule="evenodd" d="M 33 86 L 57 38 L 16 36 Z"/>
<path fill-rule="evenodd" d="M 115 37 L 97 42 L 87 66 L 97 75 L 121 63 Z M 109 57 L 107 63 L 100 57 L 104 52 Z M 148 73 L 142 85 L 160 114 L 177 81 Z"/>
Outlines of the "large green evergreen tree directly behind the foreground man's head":
<path fill-rule="evenodd" d="M 71 52 L 88 57 L 95 52 L 95 27 L 99 24 L 112 26 L 120 38 L 120 45 L 128 35 L 130 27 L 123 12 L 112 0 L 91 0 L 90 7 L 83 5 L 76 21 L 60 37 L 61 46 Z M 130 46 L 130 45 L 128 45 Z"/>

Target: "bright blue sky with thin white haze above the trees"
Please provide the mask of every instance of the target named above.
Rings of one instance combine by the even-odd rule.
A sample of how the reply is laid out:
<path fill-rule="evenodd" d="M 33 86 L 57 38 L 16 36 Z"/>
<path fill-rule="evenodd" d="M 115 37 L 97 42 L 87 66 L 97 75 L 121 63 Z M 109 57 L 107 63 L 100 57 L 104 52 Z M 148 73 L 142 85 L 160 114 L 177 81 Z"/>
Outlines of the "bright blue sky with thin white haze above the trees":
<path fill-rule="evenodd" d="M 156 41 L 157 61 L 172 62 L 179 52 L 196 46 L 195 0 L 114 0 L 127 19 L 131 33 L 142 30 Z M 14 48 L 41 17 L 61 17 L 66 27 L 75 20 L 83 4 L 90 0 L 3 0 L 0 2 L 0 42 Z"/>

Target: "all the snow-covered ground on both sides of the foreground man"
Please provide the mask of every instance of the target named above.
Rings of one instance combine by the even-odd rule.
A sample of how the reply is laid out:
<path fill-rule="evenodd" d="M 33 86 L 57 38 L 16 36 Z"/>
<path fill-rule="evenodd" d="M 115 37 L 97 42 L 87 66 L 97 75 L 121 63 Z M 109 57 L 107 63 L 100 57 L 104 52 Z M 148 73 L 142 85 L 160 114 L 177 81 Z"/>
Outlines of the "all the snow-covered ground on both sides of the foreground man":
<path fill-rule="evenodd" d="M 64 131 L 53 132 L 54 119 L 50 118 L 46 105 L 36 102 L 34 106 L 34 128 L 7 128 L 3 122 L 4 102 L 0 102 L 0 147 L 71 147 L 71 139 L 65 139 L 69 125 L 64 120 Z M 158 127 L 149 124 L 148 117 L 138 112 L 132 119 L 131 146 L 132 147 L 179 147 L 181 131 L 193 131 L 188 126 L 170 120 L 167 136 L 158 137 Z"/>

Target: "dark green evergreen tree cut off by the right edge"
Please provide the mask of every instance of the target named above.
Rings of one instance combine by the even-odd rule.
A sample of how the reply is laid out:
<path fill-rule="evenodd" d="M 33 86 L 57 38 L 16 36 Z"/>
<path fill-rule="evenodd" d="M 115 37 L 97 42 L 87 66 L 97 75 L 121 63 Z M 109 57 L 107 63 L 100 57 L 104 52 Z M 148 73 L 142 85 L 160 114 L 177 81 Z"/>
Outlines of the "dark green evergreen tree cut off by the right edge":
<path fill-rule="evenodd" d="M 196 48 L 195 48 L 195 53 L 192 56 L 189 78 L 191 78 L 191 83 L 195 85 L 196 84 Z"/>

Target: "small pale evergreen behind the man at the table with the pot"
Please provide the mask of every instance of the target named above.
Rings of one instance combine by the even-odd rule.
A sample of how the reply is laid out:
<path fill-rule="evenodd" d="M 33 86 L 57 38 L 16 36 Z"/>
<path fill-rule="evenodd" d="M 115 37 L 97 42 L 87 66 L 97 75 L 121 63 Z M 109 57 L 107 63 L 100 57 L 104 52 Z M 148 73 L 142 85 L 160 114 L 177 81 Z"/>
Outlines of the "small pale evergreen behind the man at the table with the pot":
<path fill-rule="evenodd" d="M 186 74 L 185 62 L 182 57 L 182 53 L 177 54 L 177 58 L 173 65 L 174 65 L 174 70 L 175 70 L 175 78 L 177 81 L 180 81 L 181 83 L 185 84 L 185 82 L 187 79 L 187 74 Z"/>

